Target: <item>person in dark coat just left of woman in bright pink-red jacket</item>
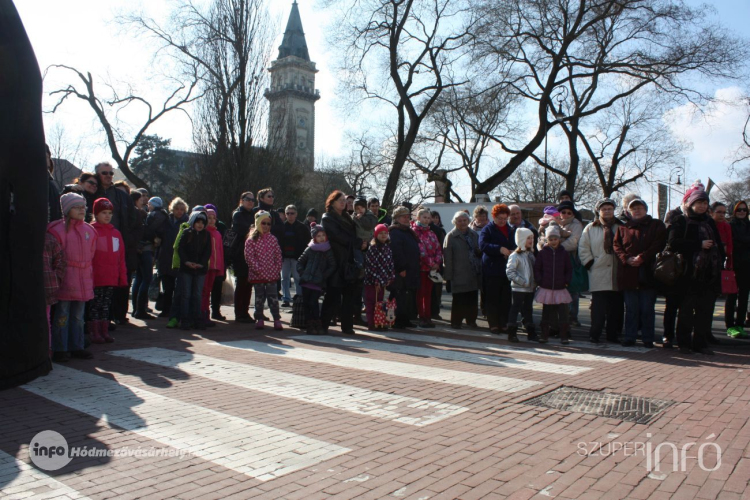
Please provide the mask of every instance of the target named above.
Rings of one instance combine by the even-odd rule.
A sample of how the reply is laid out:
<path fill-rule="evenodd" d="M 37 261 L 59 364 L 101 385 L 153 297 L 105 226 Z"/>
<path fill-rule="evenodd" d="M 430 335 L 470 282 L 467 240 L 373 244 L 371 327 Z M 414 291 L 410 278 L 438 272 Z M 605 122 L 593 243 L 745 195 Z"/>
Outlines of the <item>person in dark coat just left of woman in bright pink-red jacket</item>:
<path fill-rule="evenodd" d="M 396 279 L 390 289 L 396 294 L 397 328 L 413 328 L 411 322 L 414 297 L 419 289 L 420 252 L 419 237 L 409 225 L 411 212 L 406 207 L 396 207 L 390 227 L 391 250 Z"/>

